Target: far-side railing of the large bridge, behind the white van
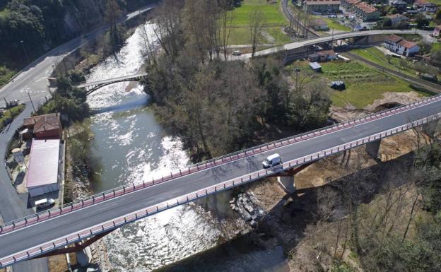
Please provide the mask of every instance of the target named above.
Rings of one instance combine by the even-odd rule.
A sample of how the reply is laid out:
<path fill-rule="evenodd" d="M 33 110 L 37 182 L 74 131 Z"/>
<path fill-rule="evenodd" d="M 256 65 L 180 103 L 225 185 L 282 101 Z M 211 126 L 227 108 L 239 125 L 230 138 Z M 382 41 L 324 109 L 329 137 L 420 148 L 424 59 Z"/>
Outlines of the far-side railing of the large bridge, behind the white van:
<path fill-rule="evenodd" d="M 223 165 L 228 162 L 233 162 L 235 160 L 239 160 L 241 158 L 245 158 L 252 155 L 259 155 L 261 153 L 265 153 L 269 150 L 273 150 L 275 148 L 281 148 L 283 146 L 288 146 L 294 143 L 298 143 L 300 141 L 305 141 L 310 138 L 314 138 L 317 136 L 322 136 L 325 134 L 332 133 L 334 131 L 339 131 L 341 129 L 347 129 L 351 126 L 356 126 L 359 124 L 363 124 L 366 122 L 371 122 L 375 119 L 380 119 L 383 117 L 391 116 L 392 114 L 396 114 L 399 112 L 403 112 L 405 110 L 410 110 L 415 107 L 420 107 L 421 105 L 426 105 L 430 102 L 440 101 L 441 95 L 436 95 L 433 97 L 429 97 L 425 100 L 421 100 L 418 102 L 413 102 L 409 105 L 404 105 L 401 107 L 396 107 L 392 110 L 384 110 L 382 112 L 378 112 L 375 114 L 367 115 L 366 117 L 355 119 L 353 121 L 344 122 L 343 124 L 334 124 L 331 126 L 324 127 L 322 129 L 316 129 L 314 131 L 308 131 L 304 134 L 299 134 L 296 136 L 290 136 L 287 138 L 282 138 L 278 141 L 272 141 L 270 143 L 265 143 L 260 146 L 254 146 L 252 148 L 248 148 L 245 150 L 240 150 L 235 153 L 230 153 L 228 155 L 224 155 L 218 158 L 213 158 L 211 160 L 206 160 L 204 162 L 199 162 L 194 165 L 189 165 L 184 169 L 176 170 L 175 172 L 170 172 L 170 175 L 161 176 L 158 178 L 152 178 L 151 181 L 144 181 L 138 183 L 126 184 L 121 187 L 117 187 L 115 189 L 103 191 L 100 194 L 95 194 L 93 196 L 89 196 L 86 199 L 80 199 L 78 201 L 73 201 L 71 203 L 66 203 L 63 206 L 59 206 L 58 208 L 52 208 L 47 211 L 42 211 L 40 213 L 35 213 L 33 215 L 28 215 L 25 218 L 20 218 L 18 220 L 13 220 L 11 222 L 5 223 L 4 225 L 0 225 L 0 235 L 3 235 L 7 232 L 11 232 L 13 230 L 18 230 L 22 227 L 26 227 L 28 225 L 33 225 L 35 223 L 40 223 L 43 220 L 49 220 L 51 218 L 57 217 L 59 215 L 64 215 L 66 213 L 71 213 L 72 211 L 76 211 L 81 208 L 86 208 L 88 206 L 93 206 L 95 203 L 100 203 L 102 201 L 107 201 L 109 199 L 114 199 L 115 197 L 122 196 L 124 194 L 130 194 L 131 192 L 145 189 L 148 187 L 152 187 L 156 184 L 160 184 L 163 182 L 169 182 L 172 179 L 177 179 L 179 177 L 183 177 L 186 175 L 193 174 L 195 172 L 199 172 L 201 170 L 206 170 L 211 167 L 216 167 L 218 165 Z"/>

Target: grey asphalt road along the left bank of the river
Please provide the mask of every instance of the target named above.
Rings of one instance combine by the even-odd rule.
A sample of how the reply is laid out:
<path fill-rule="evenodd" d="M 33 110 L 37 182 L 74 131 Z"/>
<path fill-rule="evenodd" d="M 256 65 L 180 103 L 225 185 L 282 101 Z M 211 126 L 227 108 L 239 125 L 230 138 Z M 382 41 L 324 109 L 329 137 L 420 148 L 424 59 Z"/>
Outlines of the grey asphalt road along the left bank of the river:
<path fill-rule="evenodd" d="M 120 23 L 130 20 L 141 13 L 151 10 L 154 5 L 141 8 L 139 11 L 127 14 L 124 18 L 119 20 Z M 0 134 L 0 155 L 4 158 L 6 147 L 11 140 L 14 131 L 23 124 L 23 119 L 29 117 L 33 112 L 33 107 L 30 103 L 28 92 L 33 100 L 34 106 L 38 107 L 45 102 L 45 97 L 49 98 L 48 92 L 49 81 L 47 78 L 51 76 L 54 66 L 61 61 L 66 55 L 75 51 L 86 41 L 94 40 L 99 35 L 102 35 L 107 30 L 108 26 L 93 30 L 84 37 L 77 37 L 64 45 L 47 52 L 42 57 L 33 61 L 33 63 L 26 66 L 13 81 L 6 84 L 0 89 L 0 97 L 5 97 L 6 100 L 18 99 L 25 103 L 25 110 L 13 120 L 12 124 L 6 127 Z M 4 106 L 4 100 L 0 100 L 0 106 Z M 0 167 L 0 214 L 5 222 L 23 218 L 25 215 L 34 213 L 32 209 L 28 209 L 27 196 L 19 196 L 11 185 L 8 173 L 5 167 Z M 6 244 L 0 242 L 0 247 L 8 248 Z M 14 272 L 45 272 L 48 271 L 47 259 L 37 259 L 33 261 L 25 261 L 13 266 Z"/>

